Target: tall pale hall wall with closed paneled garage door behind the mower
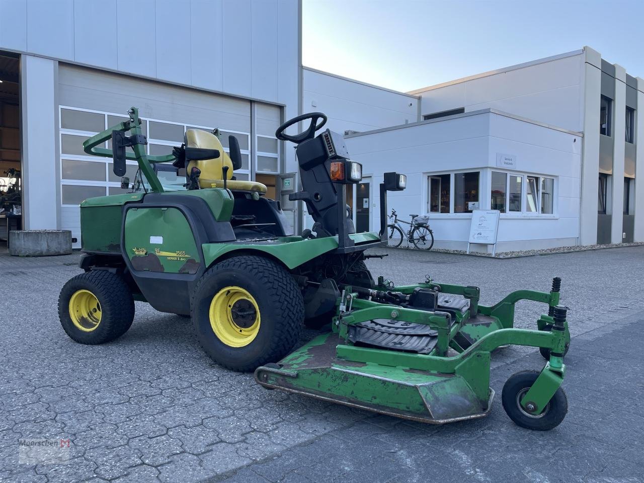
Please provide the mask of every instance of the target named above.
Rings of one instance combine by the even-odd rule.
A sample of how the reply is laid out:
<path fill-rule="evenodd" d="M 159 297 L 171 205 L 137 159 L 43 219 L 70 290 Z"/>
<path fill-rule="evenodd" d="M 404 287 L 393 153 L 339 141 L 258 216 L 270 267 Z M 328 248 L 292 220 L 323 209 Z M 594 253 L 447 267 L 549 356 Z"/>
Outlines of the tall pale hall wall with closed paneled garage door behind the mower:
<path fill-rule="evenodd" d="M 79 199 L 119 189 L 80 143 L 130 106 L 151 151 L 216 127 L 242 144 L 240 178 L 295 171 L 274 133 L 301 104 L 300 4 L 0 0 L 0 51 L 20 59 L 23 228 L 71 229 L 79 246 Z"/>

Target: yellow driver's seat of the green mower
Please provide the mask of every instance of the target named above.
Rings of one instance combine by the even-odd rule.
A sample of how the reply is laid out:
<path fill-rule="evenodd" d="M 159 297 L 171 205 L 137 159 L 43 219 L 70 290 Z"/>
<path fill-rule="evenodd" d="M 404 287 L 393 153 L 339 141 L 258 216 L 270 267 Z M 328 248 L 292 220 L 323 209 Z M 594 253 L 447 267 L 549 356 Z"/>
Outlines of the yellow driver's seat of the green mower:
<path fill-rule="evenodd" d="M 234 139 L 234 138 L 233 138 Z M 222 142 L 212 133 L 202 131 L 201 129 L 187 129 L 185 131 L 185 147 L 200 147 L 202 149 L 217 149 L 220 156 L 214 159 L 191 160 L 187 166 L 187 172 L 190 173 L 193 167 L 200 169 L 199 185 L 202 188 L 223 188 L 224 167 L 228 170 L 225 172 L 226 187 L 231 191 L 251 191 L 254 193 L 265 194 L 266 185 L 256 181 L 234 180 L 232 179 L 234 169 L 240 166 L 234 166 L 231 156 L 223 150 Z M 238 145 L 235 146 L 239 149 Z M 235 149 L 231 143 L 231 151 Z M 233 157 L 236 157 L 233 155 Z"/>

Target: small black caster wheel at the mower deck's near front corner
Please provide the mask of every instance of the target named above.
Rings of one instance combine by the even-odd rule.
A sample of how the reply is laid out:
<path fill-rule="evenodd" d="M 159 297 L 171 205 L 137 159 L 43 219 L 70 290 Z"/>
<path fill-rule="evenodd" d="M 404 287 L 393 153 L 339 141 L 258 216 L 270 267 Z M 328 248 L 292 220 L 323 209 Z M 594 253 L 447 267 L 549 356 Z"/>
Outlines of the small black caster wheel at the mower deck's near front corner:
<path fill-rule="evenodd" d="M 558 388 L 540 414 L 527 412 L 520 401 L 537 377 L 539 377 L 537 371 L 522 371 L 511 375 L 503 386 L 501 401 L 509 418 L 518 426 L 529 430 L 548 431 L 564 421 L 568 412 L 568 399 L 564 390 Z"/>

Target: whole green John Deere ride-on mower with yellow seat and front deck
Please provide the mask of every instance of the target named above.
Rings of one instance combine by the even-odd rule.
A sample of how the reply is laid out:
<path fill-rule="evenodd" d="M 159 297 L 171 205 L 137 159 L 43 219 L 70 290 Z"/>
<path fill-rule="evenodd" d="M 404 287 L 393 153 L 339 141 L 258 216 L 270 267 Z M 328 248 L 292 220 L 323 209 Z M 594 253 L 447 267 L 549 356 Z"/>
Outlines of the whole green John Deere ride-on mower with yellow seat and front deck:
<path fill-rule="evenodd" d="M 305 131 L 285 133 L 305 120 Z M 131 193 L 81 204 L 84 273 L 59 299 L 67 334 L 84 344 L 112 341 L 132 324 L 134 301 L 146 301 L 190 316 L 214 361 L 254 370 L 266 388 L 434 424 L 486 415 L 494 397 L 491 352 L 535 346 L 544 368 L 511 376 L 503 406 L 520 426 L 557 426 L 567 412 L 560 386 L 570 340 L 560 279 L 550 292 L 519 290 L 489 307 L 480 305 L 478 287 L 429 276 L 402 287 L 374 280 L 364 262 L 374 255 L 365 251 L 386 242 L 386 194 L 403 190 L 406 177 L 384 173 L 381 229 L 355 233 L 346 184 L 361 180 L 362 166 L 337 133 L 316 136 L 326 120 L 301 115 L 276 132 L 297 145 L 303 190 L 290 200 L 305 202 L 315 221 L 297 236 L 264 185 L 235 179 L 241 156 L 234 137 L 226 153 L 218 131 L 188 129 L 172 154 L 149 156 L 131 108 L 128 121 L 88 139 L 86 153 L 112 157 L 117 176 L 126 158 L 136 160 L 138 181 Z M 160 169 L 185 169 L 185 185 L 164 187 Z M 524 299 L 548 307 L 536 330 L 513 327 L 515 303 Z M 327 331 L 291 352 L 303 323 Z"/>

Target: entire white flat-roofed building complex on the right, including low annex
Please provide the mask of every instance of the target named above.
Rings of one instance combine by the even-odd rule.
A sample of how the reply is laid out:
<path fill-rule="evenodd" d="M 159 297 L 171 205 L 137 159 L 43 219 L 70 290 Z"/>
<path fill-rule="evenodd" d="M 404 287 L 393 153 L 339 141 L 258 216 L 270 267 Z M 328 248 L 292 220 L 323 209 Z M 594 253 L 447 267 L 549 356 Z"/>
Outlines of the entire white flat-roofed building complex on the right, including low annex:
<path fill-rule="evenodd" d="M 408 189 L 390 207 L 429 214 L 437 247 L 466 248 L 474 207 L 501 211 L 498 251 L 644 242 L 644 80 L 592 48 L 410 93 L 304 79 L 303 109 L 328 111 L 373 176 L 356 190 L 363 227 L 376 228 L 374 186 L 397 169 Z"/>

